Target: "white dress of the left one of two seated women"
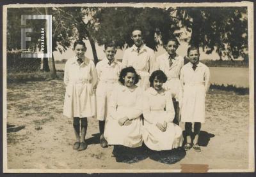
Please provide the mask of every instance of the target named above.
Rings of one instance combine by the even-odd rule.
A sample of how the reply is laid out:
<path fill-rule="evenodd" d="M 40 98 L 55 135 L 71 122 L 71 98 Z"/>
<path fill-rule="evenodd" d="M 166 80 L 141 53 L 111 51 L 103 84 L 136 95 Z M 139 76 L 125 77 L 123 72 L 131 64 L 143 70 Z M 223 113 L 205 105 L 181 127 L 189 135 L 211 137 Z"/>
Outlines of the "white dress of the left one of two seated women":
<path fill-rule="evenodd" d="M 134 85 L 131 90 L 118 85 L 111 94 L 109 114 L 106 120 L 104 138 L 109 145 L 124 145 L 130 148 L 142 145 L 142 103 L 143 93 Z M 118 120 L 128 117 L 130 125 L 120 126 Z"/>

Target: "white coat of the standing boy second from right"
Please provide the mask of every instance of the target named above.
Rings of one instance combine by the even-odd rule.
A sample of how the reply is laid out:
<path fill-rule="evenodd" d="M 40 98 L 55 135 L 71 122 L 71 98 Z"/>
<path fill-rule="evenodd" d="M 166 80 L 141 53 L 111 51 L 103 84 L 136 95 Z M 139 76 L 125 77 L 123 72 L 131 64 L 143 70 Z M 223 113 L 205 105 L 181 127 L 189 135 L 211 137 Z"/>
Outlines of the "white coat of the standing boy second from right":
<path fill-rule="evenodd" d="M 179 106 L 181 106 L 182 87 L 180 82 L 180 70 L 182 66 L 184 66 L 184 58 L 177 55 L 175 60 L 172 60 L 173 64 L 171 67 L 168 58 L 169 54 L 167 52 L 157 57 L 157 61 L 159 62 L 159 69 L 162 70 L 167 76 L 167 81 L 163 84 L 163 88 L 170 90 L 173 94 L 173 97 L 179 101 Z"/>

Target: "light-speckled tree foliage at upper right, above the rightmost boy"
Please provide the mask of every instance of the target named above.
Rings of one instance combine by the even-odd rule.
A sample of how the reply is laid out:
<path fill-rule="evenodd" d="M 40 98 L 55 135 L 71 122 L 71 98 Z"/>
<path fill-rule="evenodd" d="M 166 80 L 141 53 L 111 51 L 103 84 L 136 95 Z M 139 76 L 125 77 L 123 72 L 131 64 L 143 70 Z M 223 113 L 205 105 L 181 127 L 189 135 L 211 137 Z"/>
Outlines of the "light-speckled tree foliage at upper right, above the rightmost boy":
<path fill-rule="evenodd" d="M 248 57 L 248 20 L 246 7 L 177 8 L 181 24 L 191 31 L 190 45 L 202 46 L 206 53 L 216 52 L 229 59 Z"/>

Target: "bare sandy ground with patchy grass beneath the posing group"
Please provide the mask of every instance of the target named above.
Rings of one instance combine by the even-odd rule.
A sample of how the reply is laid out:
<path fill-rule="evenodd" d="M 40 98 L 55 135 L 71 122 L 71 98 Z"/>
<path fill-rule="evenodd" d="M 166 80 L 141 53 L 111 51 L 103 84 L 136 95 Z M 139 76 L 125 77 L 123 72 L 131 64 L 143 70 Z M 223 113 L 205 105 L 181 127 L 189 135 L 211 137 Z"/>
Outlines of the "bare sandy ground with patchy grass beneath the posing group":
<path fill-rule="evenodd" d="M 180 169 L 181 164 L 207 164 L 209 169 L 248 169 L 249 96 L 211 90 L 202 124 L 202 152 L 170 153 L 168 164 L 150 157 L 116 162 L 113 146 L 101 148 L 99 127 L 88 118 L 88 148 L 72 150 L 72 120 L 63 117 L 62 80 L 8 84 L 8 169 Z M 180 124 L 184 129 L 184 124 Z"/>

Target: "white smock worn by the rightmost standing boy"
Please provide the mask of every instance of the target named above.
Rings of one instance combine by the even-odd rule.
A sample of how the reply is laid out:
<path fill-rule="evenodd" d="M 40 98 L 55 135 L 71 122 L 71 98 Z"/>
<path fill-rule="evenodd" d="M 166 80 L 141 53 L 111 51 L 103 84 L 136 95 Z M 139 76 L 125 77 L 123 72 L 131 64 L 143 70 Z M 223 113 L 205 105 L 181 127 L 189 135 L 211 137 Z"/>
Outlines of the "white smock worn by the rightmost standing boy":
<path fill-rule="evenodd" d="M 182 122 L 205 122 L 205 94 L 209 89 L 209 67 L 199 62 L 195 71 L 191 62 L 182 67 L 183 98 L 181 108 Z"/>

